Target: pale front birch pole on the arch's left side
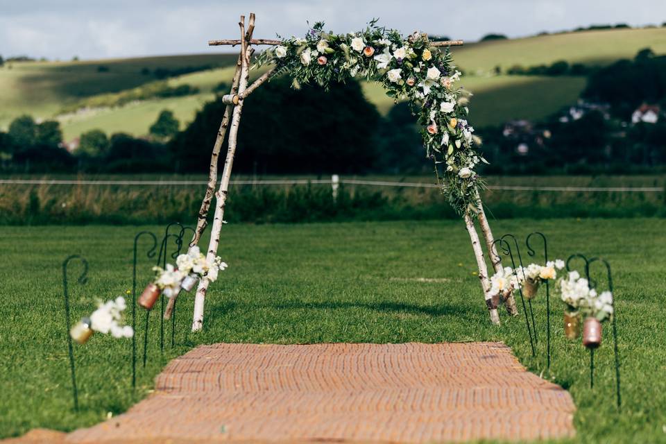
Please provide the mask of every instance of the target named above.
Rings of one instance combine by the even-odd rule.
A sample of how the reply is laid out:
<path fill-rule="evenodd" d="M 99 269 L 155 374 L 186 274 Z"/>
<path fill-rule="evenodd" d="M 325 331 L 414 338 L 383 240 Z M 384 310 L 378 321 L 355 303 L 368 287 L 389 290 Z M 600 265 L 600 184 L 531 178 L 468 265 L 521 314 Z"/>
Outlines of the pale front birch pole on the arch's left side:
<path fill-rule="evenodd" d="M 248 42 L 252 39 L 252 34 L 255 28 L 255 15 L 250 14 L 250 21 L 248 22 L 248 31 L 245 31 L 245 17 L 241 16 L 239 22 L 241 29 L 241 69 L 238 83 L 238 94 L 243 94 L 248 87 L 248 78 L 250 74 L 250 56 L 252 49 Z M 243 112 L 244 99 L 239 97 L 237 105 L 233 105 L 231 125 L 229 128 L 229 141 L 227 148 L 227 155 L 224 161 L 224 168 L 222 170 L 222 179 L 220 187 L 215 193 L 215 213 L 213 217 L 212 228 L 210 230 L 210 242 L 208 244 L 207 259 L 214 261 L 219 247 L 220 232 L 222 229 L 225 203 L 229 191 L 229 180 L 231 171 L 234 164 L 234 155 L 236 153 L 236 145 L 238 140 L 238 128 L 241 121 L 241 113 Z M 201 278 L 199 285 L 196 289 L 194 296 L 194 315 L 192 318 L 192 331 L 198 332 L 203 327 L 203 309 L 205 304 L 206 292 L 208 289 L 209 281 L 207 278 Z"/>

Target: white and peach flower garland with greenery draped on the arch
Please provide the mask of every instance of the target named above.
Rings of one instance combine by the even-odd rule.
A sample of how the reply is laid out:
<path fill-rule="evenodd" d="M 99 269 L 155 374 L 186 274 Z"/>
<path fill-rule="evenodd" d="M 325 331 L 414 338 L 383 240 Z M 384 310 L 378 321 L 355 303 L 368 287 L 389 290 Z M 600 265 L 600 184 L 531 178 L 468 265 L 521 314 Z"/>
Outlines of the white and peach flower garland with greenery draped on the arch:
<path fill-rule="evenodd" d="M 403 37 L 377 26 L 377 20 L 365 31 L 347 34 L 325 32 L 318 22 L 303 38 L 280 40 L 258 56 L 256 66 L 271 63 L 278 72 L 288 71 L 296 87 L 317 83 L 327 88 L 362 77 L 382 83 L 395 101 L 409 101 L 426 155 L 436 171 L 442 167 L 438 180 L 449 203 L 461 215 L 476 214 L 481 180 L 475 169 L 486 160 L 475 148 L 480 139 L 466 120 L 470 94 L 456 87 L 461 73 L 448 49 L 431 46 L 427 35 L 418 32 Z"/>

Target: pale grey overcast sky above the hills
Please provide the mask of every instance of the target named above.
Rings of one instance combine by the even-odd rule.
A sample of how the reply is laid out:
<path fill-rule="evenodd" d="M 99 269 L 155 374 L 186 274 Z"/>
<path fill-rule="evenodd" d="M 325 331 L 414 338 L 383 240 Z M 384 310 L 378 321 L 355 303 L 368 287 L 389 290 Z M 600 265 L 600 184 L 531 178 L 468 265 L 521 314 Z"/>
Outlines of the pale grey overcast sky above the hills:
<path fill-rule="evenodd" d="M 666 21 L 666 0 L 0 0 L 0 55 L 68 60 L 205 53 L 212 38 L 236 38 L 239 15 L 257 13 L 255 37 L 303 35 L 324 20 L 343 33 L 373 17 L 403 33 L 416 29 L 478 40 L 590 24 Z"/>

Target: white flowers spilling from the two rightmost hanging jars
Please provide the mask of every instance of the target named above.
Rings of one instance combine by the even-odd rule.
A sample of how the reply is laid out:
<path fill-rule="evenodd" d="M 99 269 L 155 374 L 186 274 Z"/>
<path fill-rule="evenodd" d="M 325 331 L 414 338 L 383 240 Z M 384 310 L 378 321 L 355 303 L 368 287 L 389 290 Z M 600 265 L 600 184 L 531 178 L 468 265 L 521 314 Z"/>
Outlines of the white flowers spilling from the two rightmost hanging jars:
<path fill-rule="evenodd" d="M 558 287 L 560 298 L 570 311 L 580 310 L 583 316 L 597 318 L 599 322 L 613 316 L 613 294 L 610 291 L 597 294 L 597 290 L 590 289 L 590 283 L 581 278 L 578 271 L 571 271 L 567 278 L 559 280 Z"/>

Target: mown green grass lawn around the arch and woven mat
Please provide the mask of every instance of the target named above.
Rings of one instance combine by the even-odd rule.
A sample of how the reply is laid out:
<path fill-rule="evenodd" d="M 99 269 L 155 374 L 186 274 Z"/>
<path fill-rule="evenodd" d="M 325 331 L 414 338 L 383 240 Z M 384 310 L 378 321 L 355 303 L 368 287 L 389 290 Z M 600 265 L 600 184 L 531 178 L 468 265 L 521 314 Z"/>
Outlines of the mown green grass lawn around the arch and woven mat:
<path fill-rule="evenodd" d="M 497 221 L 493 228 L 496 234 L 514 232 L 521 238 L 541 230 L 549 237 L 552 257 L 581 252 L 610 261 L 622 357 L 622 413 L 614 404 L 610 325 L 604 326 L 604 344 L 595 355 L 592 391 L 588 354 L 580 342 L 563 339 L 562 307 L 556 300 L 552 375 L 571 391 L 579 408 L 574 441 L 663 442 L 666 223 L 513 220 Z M 89 260 L 89 282 L 71 285 L 74 318 L 80 318 L 94 307 L 94 298 L 111 298 L 131 287 L 133 236 L 144 229 L 161 230 L 3 229 L 0 436 L 33 427 L 71 430 L 99 422 L 108 412 L 120 413 L 150 391 L 153 377 L 169 359 L 199 343 L 505 341 L 530 370 L 545 370 L 543 290 L 535 303 L 540 343 L 533 359 L 522 316 L 503 316 L 501 327 L 488 323 L 469 239 L 459 221 L 228 225 L 221 255 L 230 267 L 212 287 L 205 332 L 189 333 L 192 298 L 182 298 L 178 345 L 167 346 L 161 355 L 153 314 L 148 366 L 144 370 L 139 364 L 135 393 L 130 388 L 129 340 L 96 334 L 87 345 L 77 346 L 81 411 L 76 415 L 71 410 L 60 264 L 72 253 Z M 151 262 L 144 257 L 140 287 L 148 280 Z M 76 274 L 74 265 L 71 281 Z"/>

